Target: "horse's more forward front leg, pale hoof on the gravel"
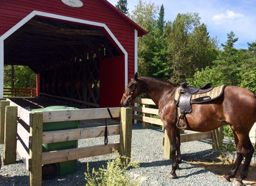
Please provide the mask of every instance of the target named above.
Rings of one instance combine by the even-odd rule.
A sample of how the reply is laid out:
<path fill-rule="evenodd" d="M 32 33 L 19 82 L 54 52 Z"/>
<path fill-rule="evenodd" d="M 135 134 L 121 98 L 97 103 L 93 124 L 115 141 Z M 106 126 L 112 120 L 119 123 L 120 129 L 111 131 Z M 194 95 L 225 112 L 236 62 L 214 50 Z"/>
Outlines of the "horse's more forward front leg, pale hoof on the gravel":
<path fill-rule="evenodd" d="M 171 145 L 171 173 L 168 174 L 167 178 L 168 179 L 175 179 L 177 178 L 176 175 L 176 170 L 177 170 L 177 159 L 176 159 L 176 129 L 173 126 L 171 126 L 170 128 L 166 129 L 169 141 L 170 141 L 170 145 Z"/>

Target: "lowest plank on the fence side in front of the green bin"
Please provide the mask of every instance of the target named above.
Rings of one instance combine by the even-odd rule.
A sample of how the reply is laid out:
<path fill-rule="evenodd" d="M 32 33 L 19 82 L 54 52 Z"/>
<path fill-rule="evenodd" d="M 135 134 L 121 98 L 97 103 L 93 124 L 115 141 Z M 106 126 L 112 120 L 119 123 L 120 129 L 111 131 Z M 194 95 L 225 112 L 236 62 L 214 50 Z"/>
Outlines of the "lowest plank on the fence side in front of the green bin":
<path fill-rule="evenodd" d="M 42 165 L 80 158 L 107 155 L 112 153 L 112 148 L 118 151 L 119 143 L 44 152 L 42 156 Z"/>

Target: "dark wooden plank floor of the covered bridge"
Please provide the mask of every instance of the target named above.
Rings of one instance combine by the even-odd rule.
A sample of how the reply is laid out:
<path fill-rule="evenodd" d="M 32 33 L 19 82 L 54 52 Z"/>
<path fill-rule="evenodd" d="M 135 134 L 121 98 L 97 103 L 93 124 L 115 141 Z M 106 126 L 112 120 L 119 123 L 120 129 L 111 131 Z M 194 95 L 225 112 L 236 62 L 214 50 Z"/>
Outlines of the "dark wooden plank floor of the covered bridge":
<path fill-rule="evenodd" d="M 48 106 L 62 105 L 54 101 L 42 99 L 39 97 L 7 97 L 9 100 L 13 101 L 19 106 L 26 109 L 37 109 L 45 108 Z M 62 105 L 63 106 L 63 105 Z M 107 125 L 118 125 L 119 121 L 116 119 L 107 119 Z M 80 127 L 92 127 L 92 126 L 103 126 L 105 125 L 105 119 L 87 119 L 80 121 Z"/>

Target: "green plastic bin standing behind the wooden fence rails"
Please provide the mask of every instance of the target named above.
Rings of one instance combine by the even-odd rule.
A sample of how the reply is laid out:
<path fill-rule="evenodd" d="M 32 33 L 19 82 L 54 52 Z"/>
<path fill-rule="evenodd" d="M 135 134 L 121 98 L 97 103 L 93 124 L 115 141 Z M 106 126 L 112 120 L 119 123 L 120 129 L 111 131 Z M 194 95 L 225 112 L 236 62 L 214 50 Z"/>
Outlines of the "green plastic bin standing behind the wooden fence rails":
<path fill-rule="evenodd" d="M 34 109 L 31 112 L 40 111 L 66 111 L 66 110 L 78 110 L 75 107 L 67 106 L 49 106 L 46 108 Z M 53 131 L 53 130 L 66 130 L 79 128 L 79 121 L 67 121 L 67 122 L 52 122 L 43 124 L 43 132 Z M 43 152 L 49 152 L 54 150 L 65 150 L 78 147 L 78 140 L 64 141 L 52 144 L 43 144 Z M 65 175 L 74 173 L 77 171 L 77 160 L 65 161 L 57 163 L 58 172 L 57 175 Z"/>

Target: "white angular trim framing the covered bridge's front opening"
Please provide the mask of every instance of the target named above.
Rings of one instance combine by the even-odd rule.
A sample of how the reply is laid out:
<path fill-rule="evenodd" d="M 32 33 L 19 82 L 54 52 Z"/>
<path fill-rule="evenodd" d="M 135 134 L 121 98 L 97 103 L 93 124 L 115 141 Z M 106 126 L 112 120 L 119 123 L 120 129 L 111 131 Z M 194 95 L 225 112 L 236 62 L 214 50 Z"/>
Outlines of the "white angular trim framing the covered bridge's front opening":
<path fill-rule="evenodd" d="M 21 28 L 27 21 L 32 19 L 34 16 L 43 16 L 43 17 L 49 17 L 49 18 L 55 18 L 59 20 L 67 20 L 72 21 L 74 23 L 81 23 L 86 25 L 94 25 L 98 27 L 103 27 L 109 34 L 109 36 L 115 41 L 116 45 L 121 49 L 121 51 L 125 54 L 125 87 L 126 89 L 127 83 L 128 83 L 128 53 L 125 50 L 124 47 L 122 47 L 121 43 L 117 40 L 117 38 L 114 36 L 114 34 L 111 32 L 111 30 L 107 27 L 106 24 L 98 23 L 94 21 L 88 21 L 83 19 L 77 19 L 73 17 L 67 17 L 67 16 L 60 16 L 57 14 L 49 14 L 45 12 L 39 12 L 34 10 L 32 13 L 27 15 L 25 18 L 23 18 L 19 23 L 17 23 L 14 27 L 9 29 L 7 32 L 5 32 L 4 35 L 0 37 L 0 98 L 3 97 L 3 86 L 4 86 L 4 40 L 11 36 L 16 30 Z"/>

